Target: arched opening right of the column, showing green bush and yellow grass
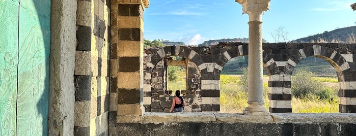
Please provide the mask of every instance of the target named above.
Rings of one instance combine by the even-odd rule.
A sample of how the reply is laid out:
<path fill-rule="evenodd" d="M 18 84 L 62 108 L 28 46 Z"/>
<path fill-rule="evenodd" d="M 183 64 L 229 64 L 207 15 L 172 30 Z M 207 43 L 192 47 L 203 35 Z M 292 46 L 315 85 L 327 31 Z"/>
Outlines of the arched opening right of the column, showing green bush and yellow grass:
<path fill-rule="evenodd" d="M 325 59 L 309 56 L 296 64 L 291 76 L 293 113 L 339 112 L 336 68 Z"/>

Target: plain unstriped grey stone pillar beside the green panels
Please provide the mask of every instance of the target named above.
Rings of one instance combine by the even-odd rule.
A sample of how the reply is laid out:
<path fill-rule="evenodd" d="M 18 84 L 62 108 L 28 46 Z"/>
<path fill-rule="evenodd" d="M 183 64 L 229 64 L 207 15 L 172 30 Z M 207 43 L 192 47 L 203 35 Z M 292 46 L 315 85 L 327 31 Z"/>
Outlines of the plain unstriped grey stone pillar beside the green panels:
<path fill-rule="evenodd" d="M 51 1 L 48 135 L 73 135 L 77 1 Z"/>

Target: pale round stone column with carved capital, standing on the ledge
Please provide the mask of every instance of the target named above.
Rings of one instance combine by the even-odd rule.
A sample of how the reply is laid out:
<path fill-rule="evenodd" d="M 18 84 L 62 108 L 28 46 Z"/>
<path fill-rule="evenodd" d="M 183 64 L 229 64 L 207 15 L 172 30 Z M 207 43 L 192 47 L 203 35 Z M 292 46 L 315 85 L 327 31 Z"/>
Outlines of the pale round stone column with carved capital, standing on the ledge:
<path fill-rule="evenodd" d="M 268 115 L 264 108 L 262 81 L 262 14 L 268 10 L 270 0 L 235 0 L 249 14 L 249 94 L 244 114 Z"/>

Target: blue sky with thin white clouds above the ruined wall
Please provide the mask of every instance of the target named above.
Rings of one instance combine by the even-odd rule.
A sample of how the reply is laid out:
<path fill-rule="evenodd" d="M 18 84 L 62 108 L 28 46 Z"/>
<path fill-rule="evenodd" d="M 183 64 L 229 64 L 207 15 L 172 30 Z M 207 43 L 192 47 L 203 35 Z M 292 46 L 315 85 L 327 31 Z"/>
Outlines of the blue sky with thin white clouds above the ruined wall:
<path fill-rule="evenodd" d="M 262 16 L 263 39 L 274 42 L 270 32 L 283 26 L 287 38 L 315 35 L 354 26 L 356 0 L 271 0 Z M 234 0 L 151 0 L 144 12 L 144 38 L 197 45 L 207 40 L 248 38 L 249 16 Z"/>

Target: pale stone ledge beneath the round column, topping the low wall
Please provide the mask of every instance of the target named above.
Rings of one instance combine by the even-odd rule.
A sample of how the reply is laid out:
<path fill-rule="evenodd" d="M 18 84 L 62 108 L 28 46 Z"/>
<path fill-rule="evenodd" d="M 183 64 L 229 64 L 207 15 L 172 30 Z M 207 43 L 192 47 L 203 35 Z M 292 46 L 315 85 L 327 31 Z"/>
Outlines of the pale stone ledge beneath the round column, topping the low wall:
<path fill-rule="evenodd" d="M 356 123 L 356 113 L 273 113 L 267 116 L 228 113 L 145 113 L 141 122 Z"/>

